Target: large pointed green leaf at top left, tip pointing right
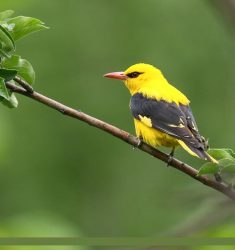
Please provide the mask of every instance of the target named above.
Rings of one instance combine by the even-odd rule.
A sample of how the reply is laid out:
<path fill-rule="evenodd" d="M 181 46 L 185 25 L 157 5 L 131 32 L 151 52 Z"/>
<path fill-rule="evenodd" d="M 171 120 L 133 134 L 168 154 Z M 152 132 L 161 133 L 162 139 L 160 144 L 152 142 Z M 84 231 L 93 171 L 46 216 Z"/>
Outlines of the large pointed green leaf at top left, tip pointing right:
<path fill-rule="evenodd" d="M 10 33 L 15 41 L 30 33 L 48 29 L 42 21 L 33 17 L 18 16 L 9 19 L 7 23 L 14 25 Z"/>

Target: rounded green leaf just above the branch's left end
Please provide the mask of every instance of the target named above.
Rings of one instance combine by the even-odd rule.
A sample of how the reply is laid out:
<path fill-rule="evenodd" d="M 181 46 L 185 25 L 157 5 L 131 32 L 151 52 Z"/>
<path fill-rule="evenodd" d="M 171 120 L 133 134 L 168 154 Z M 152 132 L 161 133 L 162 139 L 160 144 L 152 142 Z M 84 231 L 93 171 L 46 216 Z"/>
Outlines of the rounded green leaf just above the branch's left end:
<path fill-rule="evenodd" d="M 11 58 L 4 59 L 2 62 L 4 68 L 14 69 L 18 71 L 18 75 L 26 80 L 29 84 L 33 84 L 35 80 L 35 72 L 30 62 L 22 59 L 18 55 L 13 55 Z"/>

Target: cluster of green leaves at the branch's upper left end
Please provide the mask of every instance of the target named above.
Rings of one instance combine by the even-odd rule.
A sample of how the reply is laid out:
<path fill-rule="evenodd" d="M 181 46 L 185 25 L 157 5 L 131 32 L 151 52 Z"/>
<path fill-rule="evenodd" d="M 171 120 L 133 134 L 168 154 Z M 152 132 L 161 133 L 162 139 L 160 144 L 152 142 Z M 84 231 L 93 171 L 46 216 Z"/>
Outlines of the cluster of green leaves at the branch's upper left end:
<path fill-rule="evenodd" d="M 15 54 L 16 42 L 33 32 L 48 28 L 39 19 L 12 17 L 13 13 L 12 10 L 0 13 L 0 102 L 11 108 L 17 107 L 18 101 L 14 93 L 6 88 L 6 82 L 14 81 L 16 76 L 30 85 L 35 81 L 31 63 Z"/>

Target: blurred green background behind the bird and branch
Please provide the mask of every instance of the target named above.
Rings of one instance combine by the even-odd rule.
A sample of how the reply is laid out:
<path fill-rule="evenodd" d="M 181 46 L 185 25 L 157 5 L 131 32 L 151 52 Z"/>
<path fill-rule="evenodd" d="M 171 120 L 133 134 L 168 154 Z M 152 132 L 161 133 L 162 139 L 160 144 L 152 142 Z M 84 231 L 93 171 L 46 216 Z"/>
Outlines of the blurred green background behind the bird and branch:
<path fill-rule="evenodd" d="M 211 147 L 235 149 L 231 3 L 1 0 L 0 10 L 50 26 L 17 44 L 35 68 L 37 91 L 134 133 L 128 91 L 102 75 L 150 63 L 191 99 Z M 222 194 L 102 131 L 18 99 L 17 109 L 0 106 L 1 236 L 235 235 L 234 204 Z M 176 155 L 202 164 L 180 149 Z"/>

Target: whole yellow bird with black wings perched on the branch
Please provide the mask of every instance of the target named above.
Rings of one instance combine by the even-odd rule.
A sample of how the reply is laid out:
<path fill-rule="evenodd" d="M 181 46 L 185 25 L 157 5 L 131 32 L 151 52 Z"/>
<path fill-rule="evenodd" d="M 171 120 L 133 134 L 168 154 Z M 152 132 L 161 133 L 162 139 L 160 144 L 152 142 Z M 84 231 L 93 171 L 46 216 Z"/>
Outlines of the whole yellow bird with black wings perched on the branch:
<path fill-rule="evenodd" d="M 208 144 L 199 134 L 188 98 L 169 84 L 159 69 L 138 63 L 104 76 L 124 81 L 129 89 L 130 109 L 141 140 L 153 147 L 171 147 L 171 156 L 180 145 L 193 156 L 217 163 L 206 152 Z"/>

